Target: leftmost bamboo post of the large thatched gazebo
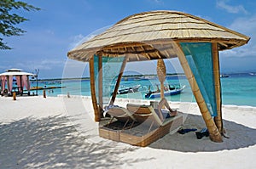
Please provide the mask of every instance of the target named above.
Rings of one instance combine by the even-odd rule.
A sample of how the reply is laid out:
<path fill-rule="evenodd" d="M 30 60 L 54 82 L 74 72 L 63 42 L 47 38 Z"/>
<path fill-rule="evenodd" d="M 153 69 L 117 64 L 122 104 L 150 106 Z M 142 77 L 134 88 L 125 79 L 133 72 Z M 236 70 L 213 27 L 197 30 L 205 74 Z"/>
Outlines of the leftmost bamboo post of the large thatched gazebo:
<path fill-rule="evenodd" d="M 94 58 L 90 58 L 89 62 L 90 68 L 90 93 L 91 93 L 91 102 L 94 110 L 94 119 L 95 121 L 101 121 L 101 117 L 99 114 L 98 106 L 97 106 L 97 99 L 96 99 L 96 88 L 95 88 L 95 81 L 94 81 Z"/>

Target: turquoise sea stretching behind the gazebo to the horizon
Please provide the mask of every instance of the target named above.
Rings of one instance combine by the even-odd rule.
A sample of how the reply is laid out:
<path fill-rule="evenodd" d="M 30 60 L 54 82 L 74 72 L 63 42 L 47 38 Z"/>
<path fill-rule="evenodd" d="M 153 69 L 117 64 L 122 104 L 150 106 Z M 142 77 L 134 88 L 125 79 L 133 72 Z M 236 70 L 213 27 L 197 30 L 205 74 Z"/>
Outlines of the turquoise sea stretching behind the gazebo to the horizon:
<path fill-rule="evenodd" d="M 171 101 L 195 102 L 189 82 L 185 76 L 167 76 L 166 84 L 185 85 L 183 92 L 179 95 L 167 97 Z M 138 93 L 128 93 L 118 95 L 118 98 L 126 99 L 145 99 L 144 95 L 150 86 L 151 90 L 156 89 L 156 84 L 160 84 L 157 77 L 150 78 L 126 78 L 120 83 L 120 87 L 134 87 L 141 85 Z M 32 82 L 32 86 L 36 86 L 36 82 Z M 47 96 L 57 96 L 58 94 L 67 95 L 83 95 L 90 96 L 89 80 L 65 80 L 65 81 L 45 81 L 38 82 L 39 87 L 58 86 L 63 88 L 55 88 L 46 91 Z M 223 104 L 249 105 L 256 107 L 256 74 L 240 73 L 229 74 L 229 77 L 221 78 L 222 86 L 222 102 Z M 153 89 L 154 88 L 154 89 Z M 36 93 L 36 91 L 32 91 Z M 38 90 L 38 94 L 42 95 L 43 91 Z"/>

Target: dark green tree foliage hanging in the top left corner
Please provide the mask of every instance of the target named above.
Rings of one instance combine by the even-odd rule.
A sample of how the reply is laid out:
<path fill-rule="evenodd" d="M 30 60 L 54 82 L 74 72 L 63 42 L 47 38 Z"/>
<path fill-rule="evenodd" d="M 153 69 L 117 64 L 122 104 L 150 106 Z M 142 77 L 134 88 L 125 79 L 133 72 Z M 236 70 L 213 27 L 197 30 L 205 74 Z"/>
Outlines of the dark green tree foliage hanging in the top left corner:
<path fill-rule="evenodd" d="M 15 25 L 27 20 L 26 18 L 13 12 L 19 9 L 35 11 L 39 10 L 40 8 L 36 8 L 20 1 L 15 2 L 15 0 L 0 0 L 0 49 L 11 49 L 6 42 L 3 42 L 3 37 L 20 36 L 26 32 L 18 27 L 15 27 Z"/>

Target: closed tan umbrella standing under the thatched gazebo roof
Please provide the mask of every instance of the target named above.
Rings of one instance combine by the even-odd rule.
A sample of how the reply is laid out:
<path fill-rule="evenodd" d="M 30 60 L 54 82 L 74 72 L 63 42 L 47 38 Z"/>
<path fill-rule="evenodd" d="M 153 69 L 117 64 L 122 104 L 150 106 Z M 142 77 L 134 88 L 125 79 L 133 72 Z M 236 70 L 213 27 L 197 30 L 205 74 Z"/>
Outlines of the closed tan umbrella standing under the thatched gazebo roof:
<path fill-rule="evenodd" d="M 165 87 L 164 87 L 164 82 L 166 80 L 166 65 L 163 59 L 158 59 L 157 60 L 157 76 L 160 81 L 160 96 L 161 99 L 165 98 Z"/>

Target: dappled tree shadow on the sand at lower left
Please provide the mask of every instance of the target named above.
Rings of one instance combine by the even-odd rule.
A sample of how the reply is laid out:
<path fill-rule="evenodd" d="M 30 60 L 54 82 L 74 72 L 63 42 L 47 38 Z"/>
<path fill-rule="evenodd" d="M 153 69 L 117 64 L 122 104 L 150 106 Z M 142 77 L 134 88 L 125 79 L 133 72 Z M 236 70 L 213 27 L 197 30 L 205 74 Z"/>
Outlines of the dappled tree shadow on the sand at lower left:
<path fill-rule="evenodd" d="M 120 155 L 138 148 L 90 143 L 64 116 L 0 124 L 0 138 L 1 168 L 116 168 L 150 160 L 123 161 Z"/>

